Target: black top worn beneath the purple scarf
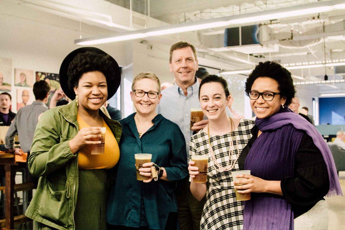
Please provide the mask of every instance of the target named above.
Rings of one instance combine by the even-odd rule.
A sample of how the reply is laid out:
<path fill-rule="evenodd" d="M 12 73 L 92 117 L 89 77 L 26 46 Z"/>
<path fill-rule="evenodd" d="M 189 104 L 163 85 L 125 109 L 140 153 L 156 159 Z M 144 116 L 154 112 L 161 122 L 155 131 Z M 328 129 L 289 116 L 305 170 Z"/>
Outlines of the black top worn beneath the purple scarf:
<path fill-rule="evenodd" d="M 244 170 L 247 154 L 257 139 L 258 131 L 257 126 L 250 130 L 253 137 L 238 158 L 240 170 Z M 303 134 L 294 161 L 294 176 L 285 177 L 280 187 L 284 198 L 291 204 L 294 218 L 297 218 L 324 199 L 329 190 L 329 178 L 321 152 L 306 133 Z"/>

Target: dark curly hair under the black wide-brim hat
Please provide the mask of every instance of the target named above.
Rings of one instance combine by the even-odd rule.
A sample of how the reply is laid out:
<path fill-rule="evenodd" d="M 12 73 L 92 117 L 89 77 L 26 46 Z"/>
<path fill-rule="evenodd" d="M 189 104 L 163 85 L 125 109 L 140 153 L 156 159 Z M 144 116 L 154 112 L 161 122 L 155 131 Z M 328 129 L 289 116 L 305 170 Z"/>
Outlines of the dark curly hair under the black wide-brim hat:
<path fill-rule="evenodd" d="M 116 72 L 112 66 L 110 56 L 87 51 L 77 54 L 69 64 L 67 71 L 68 88 L 73 91 L 73 88 L 78 86 L 81 76 L 92 71 L 103 73 L 107 79 L 107 85 L 115 81 Z"/>

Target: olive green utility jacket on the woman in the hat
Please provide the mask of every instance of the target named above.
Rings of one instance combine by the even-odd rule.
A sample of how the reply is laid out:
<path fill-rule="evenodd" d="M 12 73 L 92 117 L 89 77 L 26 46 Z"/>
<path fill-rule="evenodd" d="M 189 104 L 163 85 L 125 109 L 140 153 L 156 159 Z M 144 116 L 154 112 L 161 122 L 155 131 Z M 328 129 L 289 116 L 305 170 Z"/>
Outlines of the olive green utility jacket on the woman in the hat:
<path fill-rule="evenodd" d="M 100 114 L 119 143 L 122 132 L 120 123 L 109 119 L 101 111 Z M 79 152 L 73 154 L 68 141 L 78 131 L 75 100 L 47 110 L 37 124 L 28 159 L 30 173 L 40 178 L 25 215 L 61 230 L 75 229 L 73 213 L 78 194 Z M 111 188 L 110 177 L 107 186 Z"/>

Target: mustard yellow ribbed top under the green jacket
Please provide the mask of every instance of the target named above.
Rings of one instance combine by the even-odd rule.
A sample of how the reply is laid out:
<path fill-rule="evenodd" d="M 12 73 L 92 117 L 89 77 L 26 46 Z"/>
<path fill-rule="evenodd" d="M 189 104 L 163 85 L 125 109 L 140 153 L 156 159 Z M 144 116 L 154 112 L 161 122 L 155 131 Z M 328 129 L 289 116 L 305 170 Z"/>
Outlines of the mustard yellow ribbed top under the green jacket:
<path fill-rule="evenodd" d="M 77 115 L 79 129 L 91 127 Z M 105 147 L 103 154 L 91 154 L 91 145 L 87 144 L 79 150 L 78 167 L 79 169 L 111 169 L 119 161 L 120 149 L 109 129 L 107 123 L 103 120 L 103 127 L 106 127 Z"/>

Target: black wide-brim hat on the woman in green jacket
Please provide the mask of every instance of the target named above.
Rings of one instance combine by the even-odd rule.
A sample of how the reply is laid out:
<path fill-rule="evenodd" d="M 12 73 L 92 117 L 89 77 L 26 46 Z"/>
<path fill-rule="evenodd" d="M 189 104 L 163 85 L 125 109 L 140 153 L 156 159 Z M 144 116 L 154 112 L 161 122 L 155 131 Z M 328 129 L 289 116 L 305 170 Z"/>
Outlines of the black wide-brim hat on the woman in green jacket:
<path fill-rule="evenodd" d="M 70 52 L 66 56 L 66 58 L 63 59 L 63 61 L 61 63 L 60 72 L 59 72 L 59 74 L 60 74 L 60 76 L 59 76 L 60 85 L 61 85 L 63 92 L 71 100 L 74 100 L 76 98 L 76 94 L 75 94 L 74 90 L 69 89 L 68 83 L 67 83 L 68 82 L 67 71 L 68 71 L 69 64 L 79 53 L 85 53 L 88 51 L 98 53 L 98 54 L 109 55 L 106 52 L 104 52 L 103 50 L 100 50 L 96 47 L 81 47 L 81 48 L 78 48 L 78 49 Z M 114 68 L 114 70 L 115 70 L 115 81 L 108 81 L 108 79 L 107 79 L 107 86 L 108 86 L 108 98 L 107 98 L 107 100 L 109 100 L 112 96 L 114 96 L 114 94 L 116 93 L 116 91 L 119 88 L 120 83 L 121 83 L 121 72 L 120 72 L 119 65 L 117 64 L 117 62 L 115 61 L 114 58 L 112 58 L 110 55 L 109 55 L 109 57 L 110 57 L 110 61 L 112 62 L 112 68 Z"/>

